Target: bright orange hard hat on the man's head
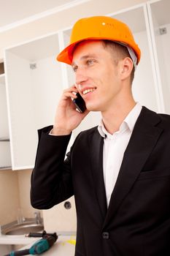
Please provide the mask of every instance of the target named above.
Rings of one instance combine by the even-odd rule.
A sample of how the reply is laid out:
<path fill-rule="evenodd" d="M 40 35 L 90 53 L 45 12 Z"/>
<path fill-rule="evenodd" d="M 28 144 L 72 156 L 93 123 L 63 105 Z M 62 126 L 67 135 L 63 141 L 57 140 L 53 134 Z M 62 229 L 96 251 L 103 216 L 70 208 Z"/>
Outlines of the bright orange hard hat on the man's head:
<path fill-rule="evenodd" d="M 58 54 L 57 60 L 72 64 L 74 47 L 78 42 L 88 39 L 107 39 L 125 45 L 130 55 L 132 52 L 135 56 L 136 64 L 139 63 L 141 51 L 134 41 L 131 30 L 120 20 L 107 16 L 93 16 L 78 20 L 73 26 L 69 45 Z"/>

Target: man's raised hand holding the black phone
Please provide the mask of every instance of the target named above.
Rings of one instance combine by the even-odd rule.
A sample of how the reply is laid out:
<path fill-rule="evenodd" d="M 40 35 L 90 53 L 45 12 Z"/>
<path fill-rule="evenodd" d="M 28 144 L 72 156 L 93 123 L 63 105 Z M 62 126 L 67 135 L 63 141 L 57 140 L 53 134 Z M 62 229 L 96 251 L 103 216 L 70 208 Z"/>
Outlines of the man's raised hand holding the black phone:
<path fill-rule="evenodd" d="M 76 110 L 72 99 L 77 98 L 77 92 L 75 86 L 63 91 L 55 113 L 55 124 L 52 130 L 53 135 L 69 135 L 76 127 L 78 127 L 82 119 L 88 115 L 88 110 L 85 110 L 84 113 L 79 113 Z"/>

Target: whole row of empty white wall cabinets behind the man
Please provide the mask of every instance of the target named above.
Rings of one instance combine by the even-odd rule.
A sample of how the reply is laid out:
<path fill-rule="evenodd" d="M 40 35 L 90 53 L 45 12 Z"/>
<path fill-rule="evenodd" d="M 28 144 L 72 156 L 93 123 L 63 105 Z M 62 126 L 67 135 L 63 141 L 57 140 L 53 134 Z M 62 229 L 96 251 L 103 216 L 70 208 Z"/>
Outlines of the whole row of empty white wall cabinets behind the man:
<path fill-rule="evenodd" d="M 156 112 L 170 113 L 169 0 L 147 1 L 128 10 L 110 13 L 130 26 L 142 50 L 135 72 L 136 101 Z M 166 27 L 166 34 L 160 28 Z M 162 30 L 163 31 L 163 30 Z M 53 124 L 55 108 L 64 88 L 72 86 L 71 67 L 55 61 L 69 43 L 71 28 L 24 42 L 5 50 L 12 169 L 34 167 L 36 129 Z M 4 85 L 4 83 L 3 83 Z M 99 113 L 90 113 L 74 132 L 98 124 Z"/>

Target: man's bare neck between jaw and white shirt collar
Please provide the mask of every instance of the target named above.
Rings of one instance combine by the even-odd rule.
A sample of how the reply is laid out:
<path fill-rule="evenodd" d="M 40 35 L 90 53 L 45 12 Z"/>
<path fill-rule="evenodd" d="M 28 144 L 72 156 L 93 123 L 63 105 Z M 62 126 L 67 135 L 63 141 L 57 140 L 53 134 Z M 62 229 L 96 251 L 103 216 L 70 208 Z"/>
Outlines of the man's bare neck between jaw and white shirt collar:
<path fill-rule="evenodd" d="M 107 132 L 110 134 L 117 132 L 123 120 L 128 116 L 128 113 L 131 112 L 135 105 L 136 102 L 134 98 L 132 98 L 131 100 L 124 101 L 123 104 L 115 104 L 112 108 L 109 108 L 109 110 L 102 112 L 102 121 Z"/>

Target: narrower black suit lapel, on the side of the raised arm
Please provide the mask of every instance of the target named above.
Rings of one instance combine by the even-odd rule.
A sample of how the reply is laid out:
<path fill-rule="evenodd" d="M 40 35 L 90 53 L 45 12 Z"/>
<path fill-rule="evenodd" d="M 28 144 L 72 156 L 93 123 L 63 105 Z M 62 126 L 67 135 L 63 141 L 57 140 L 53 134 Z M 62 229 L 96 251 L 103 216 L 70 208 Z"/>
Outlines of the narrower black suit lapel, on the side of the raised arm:
<path fill-rule="evenodd" d="M 107 213 L 107 200 L 104 187 L 104 176 L 103 176 L 103 146 L 104 138 L 99 135 L 98 131 L 95 130 L 89 138 L 90 145 L 90 157 L 94 187 L 96 189 L 96 197 L 98 205 L 101 210 L 103 219 Z"/>

